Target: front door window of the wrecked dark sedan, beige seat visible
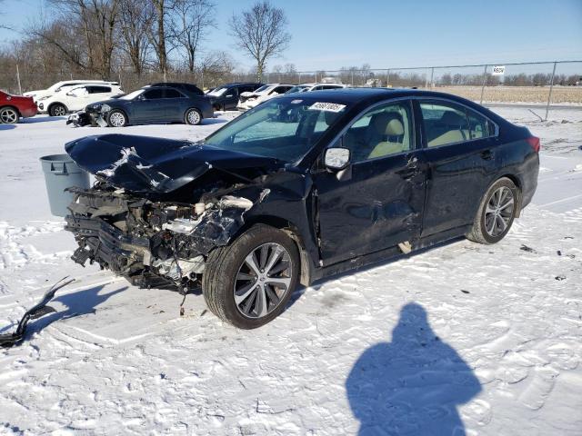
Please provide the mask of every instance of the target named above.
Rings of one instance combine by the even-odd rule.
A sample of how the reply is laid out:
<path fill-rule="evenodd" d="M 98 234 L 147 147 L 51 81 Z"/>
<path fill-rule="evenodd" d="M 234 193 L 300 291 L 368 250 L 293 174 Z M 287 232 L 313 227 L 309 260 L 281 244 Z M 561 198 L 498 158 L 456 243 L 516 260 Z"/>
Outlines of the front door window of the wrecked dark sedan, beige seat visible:
<path fill-rule="evenodd" d="M 412 150 L 412 138 L 410 103 L 383 104 L 351 125 L 344 134 L 343 146 L 357 163 Z"/>

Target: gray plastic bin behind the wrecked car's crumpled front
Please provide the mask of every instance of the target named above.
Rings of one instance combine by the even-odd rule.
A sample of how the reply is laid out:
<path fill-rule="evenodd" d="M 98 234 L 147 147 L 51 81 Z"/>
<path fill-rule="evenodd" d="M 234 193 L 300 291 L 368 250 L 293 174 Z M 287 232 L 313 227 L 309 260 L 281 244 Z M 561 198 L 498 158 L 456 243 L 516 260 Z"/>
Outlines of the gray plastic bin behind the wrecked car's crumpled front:
<path fill-rule="evenodd" d="M 65 189 L 72 186 L 87 189 L 89 174 L 79 168 L 68 154 L 51 154 L 40 158 L 45 173 L 46 193 L 51 213 L 65 216 L 69 213 L 67 206 L 73 201 L 73 194 Z"/>

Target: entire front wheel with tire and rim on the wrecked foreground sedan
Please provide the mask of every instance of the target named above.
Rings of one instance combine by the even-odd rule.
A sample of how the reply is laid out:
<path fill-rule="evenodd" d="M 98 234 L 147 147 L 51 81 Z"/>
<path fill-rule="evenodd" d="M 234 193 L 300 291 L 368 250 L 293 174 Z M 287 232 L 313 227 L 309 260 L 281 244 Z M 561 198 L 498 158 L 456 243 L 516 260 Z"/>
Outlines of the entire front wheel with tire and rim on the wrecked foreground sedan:
<path fill-rule="evenodd" d="M 256 329 L 285 310 L 299 277 L 296 243 L 281 230 L 256 224 L 208 255 L 202 289 L 218 318 Z"/>

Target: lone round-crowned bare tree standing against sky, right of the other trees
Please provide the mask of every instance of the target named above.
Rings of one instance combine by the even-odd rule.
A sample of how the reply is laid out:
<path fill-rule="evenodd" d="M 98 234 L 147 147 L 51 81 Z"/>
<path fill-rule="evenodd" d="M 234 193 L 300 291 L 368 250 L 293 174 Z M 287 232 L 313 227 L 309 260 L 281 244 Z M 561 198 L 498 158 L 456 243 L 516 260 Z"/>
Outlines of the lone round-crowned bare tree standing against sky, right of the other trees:
<path fill-rule="evenodd" d="M 280 55 L 291 41 L 291 35 L 286 32 L 285 12 L 266 1 L 257 2 L 249 11 L 233 15 L 228 25 L 236 46 L 255 59 L 256 78 L 260 82 L 266 62 Z"/>

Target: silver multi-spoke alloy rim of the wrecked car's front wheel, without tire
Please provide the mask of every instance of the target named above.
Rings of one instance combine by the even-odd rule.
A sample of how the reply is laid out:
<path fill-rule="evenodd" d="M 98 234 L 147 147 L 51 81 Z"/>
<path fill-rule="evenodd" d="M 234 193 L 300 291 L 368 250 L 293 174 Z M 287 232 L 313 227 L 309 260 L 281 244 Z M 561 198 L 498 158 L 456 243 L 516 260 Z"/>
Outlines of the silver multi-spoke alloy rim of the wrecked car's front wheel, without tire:
<path fill-rule="evenodd" d="M 278 243 L 264 243 L 245 258 L 236 273 L 236 309 L 247 318 L 263 318 L 273 312 L 293 277 L 291 257 Z"/>

